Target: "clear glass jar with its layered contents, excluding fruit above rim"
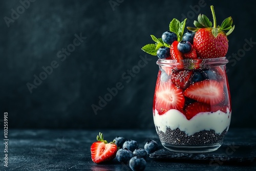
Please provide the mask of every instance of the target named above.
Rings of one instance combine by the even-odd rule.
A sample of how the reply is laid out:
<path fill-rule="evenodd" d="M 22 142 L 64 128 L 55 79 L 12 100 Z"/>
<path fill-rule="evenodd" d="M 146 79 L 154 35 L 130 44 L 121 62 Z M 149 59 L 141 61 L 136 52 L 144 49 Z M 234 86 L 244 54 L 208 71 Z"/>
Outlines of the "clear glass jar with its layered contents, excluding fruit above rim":
<path fill-rule="evenodd" d="M 202 153 L 221 146 L 231 119 L 227 62 L 158 59 L 153 117 L 165 148 Z"/>

